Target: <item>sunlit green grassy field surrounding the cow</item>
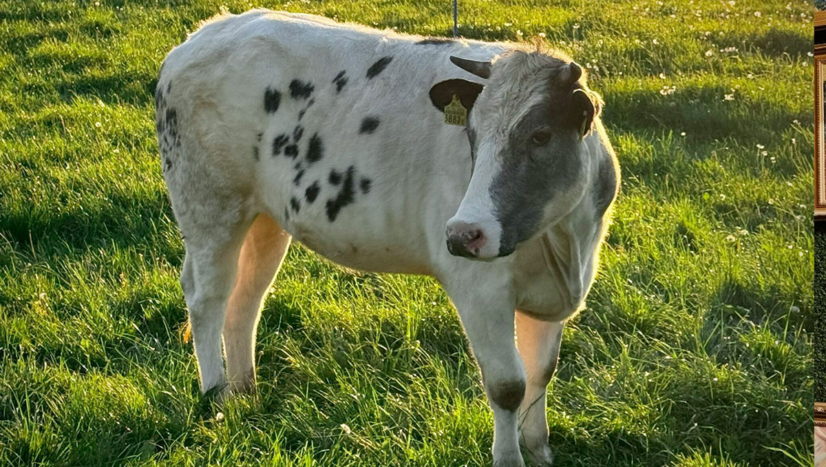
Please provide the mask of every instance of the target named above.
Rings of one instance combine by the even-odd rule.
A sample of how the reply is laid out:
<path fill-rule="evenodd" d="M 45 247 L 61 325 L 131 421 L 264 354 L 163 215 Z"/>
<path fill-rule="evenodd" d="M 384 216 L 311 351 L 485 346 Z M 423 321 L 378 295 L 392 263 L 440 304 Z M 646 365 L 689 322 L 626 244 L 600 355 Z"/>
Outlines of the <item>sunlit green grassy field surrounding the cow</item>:
<path fill-rule="evenodd" d="M 300 245 L 265 303 L 259 395 L 222 417 L 200 397 L 154 83 L 198 21 L 251 6 L 451 26 L 447 0 L 0 0 L 0 465 L 490 461 L 439 285 Z M 548 398 L 557 465 L 811 465 L 811 2 L 462 0 L 460 16 L 463 36 L 544 34 L 586 65 L 623 165 Z"/>

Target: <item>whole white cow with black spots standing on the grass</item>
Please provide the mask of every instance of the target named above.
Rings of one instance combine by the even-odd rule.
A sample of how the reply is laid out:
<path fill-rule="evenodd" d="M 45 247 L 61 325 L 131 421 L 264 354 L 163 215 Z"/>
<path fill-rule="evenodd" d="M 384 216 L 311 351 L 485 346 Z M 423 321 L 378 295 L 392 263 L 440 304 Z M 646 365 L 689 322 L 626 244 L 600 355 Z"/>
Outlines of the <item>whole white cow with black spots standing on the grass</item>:
<path fill-rule="evenodd" d="M 444 123 L 454 96 L 466 126 Z M 156 92 L 202 390 L 254 387 L 262 298 L 294 237 L 439 279 L 482 369 L 494 464 L 524 465 L 521 442 L 550 465 L 546 386 L 619 186 L 601 103 L 535 47 L 264 10 L 207 21 Z"/>

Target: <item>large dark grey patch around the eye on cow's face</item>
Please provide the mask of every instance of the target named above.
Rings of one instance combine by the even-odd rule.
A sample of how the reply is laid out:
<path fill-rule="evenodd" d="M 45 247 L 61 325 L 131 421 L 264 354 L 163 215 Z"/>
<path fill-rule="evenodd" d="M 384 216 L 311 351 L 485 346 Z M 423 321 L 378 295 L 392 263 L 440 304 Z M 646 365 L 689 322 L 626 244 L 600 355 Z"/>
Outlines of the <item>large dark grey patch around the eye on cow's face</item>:
<path fill-rule="evenodd" d="M 560 104 L 564 107 L 562 99 L 553 94 L 526 112 L 497 155 L 501 171 L 491 182 L 490 194 L 501 225 L 501 256 L 510 255 L 518 243 L 533 236 L 543 220 L 544 208 L 583 176 L 577 128 L 567 124 L 566 117 L 560 115 L 564 112 L 554 111 Z M 537 131 L 551 135 L 546 144 L 534 143 Z"/>

